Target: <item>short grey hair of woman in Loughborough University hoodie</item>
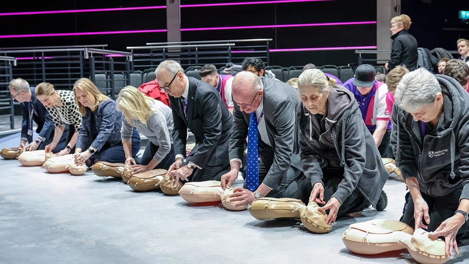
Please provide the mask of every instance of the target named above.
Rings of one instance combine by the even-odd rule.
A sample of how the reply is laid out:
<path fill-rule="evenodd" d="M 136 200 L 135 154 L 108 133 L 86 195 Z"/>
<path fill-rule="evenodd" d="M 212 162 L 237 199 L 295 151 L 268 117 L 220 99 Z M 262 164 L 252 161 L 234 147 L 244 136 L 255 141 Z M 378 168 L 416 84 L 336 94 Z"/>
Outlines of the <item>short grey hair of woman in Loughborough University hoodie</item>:
<path fill-rule="evenodd" d="M 425 68 L 411 71 L 402 77 L 396 88 L 396 104 L 406 112 L 415 112 L 432 104 L 441 86 L 433 74 Z"/>

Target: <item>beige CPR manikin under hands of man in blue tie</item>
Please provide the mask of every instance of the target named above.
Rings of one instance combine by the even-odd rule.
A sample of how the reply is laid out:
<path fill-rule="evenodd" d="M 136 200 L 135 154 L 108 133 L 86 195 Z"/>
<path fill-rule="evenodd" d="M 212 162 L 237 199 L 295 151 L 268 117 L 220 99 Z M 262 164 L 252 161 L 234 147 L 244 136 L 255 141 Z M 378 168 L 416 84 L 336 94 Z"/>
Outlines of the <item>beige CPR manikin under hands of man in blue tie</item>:
<path fill-rule="evenodd" d="M 217 180 L 186 182 L 179 191 L 179 195 L 188 202 L 219 202 L 231 211 L 241 211 L 247 206 L 236 206 L 231 201 L 230 195 L 233 194 L 233 188 L 227 188 L 223 191 L 221 182 Z"/>

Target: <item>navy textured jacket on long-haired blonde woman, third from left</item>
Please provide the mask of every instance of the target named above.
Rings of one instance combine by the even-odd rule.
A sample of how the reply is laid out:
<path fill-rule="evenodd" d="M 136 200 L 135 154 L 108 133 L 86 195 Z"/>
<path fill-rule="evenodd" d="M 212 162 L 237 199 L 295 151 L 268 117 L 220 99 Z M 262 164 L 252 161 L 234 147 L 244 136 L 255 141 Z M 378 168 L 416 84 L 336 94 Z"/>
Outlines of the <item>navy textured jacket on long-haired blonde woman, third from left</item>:
<path fill-rule="evenodd" d="M 109 98 L 98 104 L 98 108 L 94 111 L 94 124 L 90 124 L 91 110 L 87 107 L 85 109 L 86 115 L 82 119 L 82 129 L 78 132 L 77 148 L 85 150 L 86 143 L 90 140 L 93 140 L 91 147 L 98 151 L 105 144 L 109 147 L 122 144 L 122 112 L 116 110 L 116 101 Z M 96 131 L 99 132 L 96 138 L 89 138 L 91 134 L 90 126 L 95 126 Z"/>

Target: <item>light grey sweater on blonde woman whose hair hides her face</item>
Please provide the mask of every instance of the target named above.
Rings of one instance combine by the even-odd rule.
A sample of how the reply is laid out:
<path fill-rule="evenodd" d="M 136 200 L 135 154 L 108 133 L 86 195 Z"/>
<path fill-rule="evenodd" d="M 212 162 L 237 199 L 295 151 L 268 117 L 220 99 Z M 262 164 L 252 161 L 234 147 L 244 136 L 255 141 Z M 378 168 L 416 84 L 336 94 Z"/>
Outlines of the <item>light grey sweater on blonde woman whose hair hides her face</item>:
<path fill-rule="evenodd" d="M 153 158 L 161 162 L 171 150 L 172 144 L 172 111 L 167 105 L 158 100 L 150 105 L 154 113 L 150 115 L 147 123 L 142 123 L 133 119 L 132 123 L 138 132 L 144 134 L 148 140 L 155 146 L 159 146 Z M 128 124 L 125 118 L 122 118 L 121 138 L 122 141 L 130 140 L 132 137 L 133 126 Z"/>

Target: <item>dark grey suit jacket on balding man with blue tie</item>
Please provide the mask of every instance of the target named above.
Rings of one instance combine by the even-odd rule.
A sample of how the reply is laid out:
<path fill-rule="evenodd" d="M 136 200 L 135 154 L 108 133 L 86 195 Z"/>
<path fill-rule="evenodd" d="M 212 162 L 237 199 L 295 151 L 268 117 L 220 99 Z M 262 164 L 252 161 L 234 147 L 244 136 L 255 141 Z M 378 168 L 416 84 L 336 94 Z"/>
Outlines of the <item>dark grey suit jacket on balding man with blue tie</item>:
<path fill-rule="evenodd" d="M 302 170 L 300 157 L 298 153 L 293 151 L 298 93 L 293 87 L 283 82 L 268 77 L 259 78 L 261 78 L 264 86 L 263 118 L 265 128 L 269 143 L 274 150 L 273 160 L 269 161 L 272 162 L 272 166 L 267 172 L 263 183 L 274 190 L 278 190 L 282 176 L 286 174 L 290 167 Z M 238 158 L 242 160 L 251 115 L 239 110 L 236 104 L 233 115 L 235 120 L 233 121 L 233 134 L 230 139 L 230 159 Z M 259 156 L 261 157 L 263 157 L 262 152 L 262 150 L 259 150 Z"/>

